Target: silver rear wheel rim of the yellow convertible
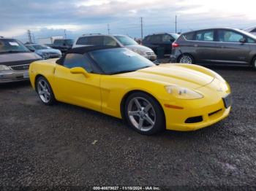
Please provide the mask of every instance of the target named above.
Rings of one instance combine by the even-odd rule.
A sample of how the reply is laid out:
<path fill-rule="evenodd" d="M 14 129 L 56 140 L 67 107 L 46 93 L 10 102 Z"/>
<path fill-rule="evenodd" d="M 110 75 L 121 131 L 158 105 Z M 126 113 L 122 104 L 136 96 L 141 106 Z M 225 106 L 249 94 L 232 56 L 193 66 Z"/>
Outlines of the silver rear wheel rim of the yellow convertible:
<path fill-rule="evenodd" d="M 48 83 L 45 81 L 45 79 L 39 79 L 37 82 L 37 93 L 39 95 L 39 98 L 44 102 L 45 104 L 48 104 L 50 101 L 50 87 L 48 86 Z"/>

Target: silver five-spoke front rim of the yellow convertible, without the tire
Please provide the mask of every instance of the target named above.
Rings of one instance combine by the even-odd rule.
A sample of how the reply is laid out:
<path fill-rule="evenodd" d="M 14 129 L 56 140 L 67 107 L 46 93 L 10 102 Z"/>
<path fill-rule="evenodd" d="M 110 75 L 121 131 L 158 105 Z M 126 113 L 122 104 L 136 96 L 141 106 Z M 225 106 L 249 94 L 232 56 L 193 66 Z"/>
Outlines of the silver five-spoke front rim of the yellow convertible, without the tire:
<path fill-rule="evenodd" d="M 132 125 L 138 128 L 138 130 L 145 132 L 154 127 L 156 112 L 146 98 L 132 98 L 129 101 L 127 110 L 130 122 L 132 122 Z"/>

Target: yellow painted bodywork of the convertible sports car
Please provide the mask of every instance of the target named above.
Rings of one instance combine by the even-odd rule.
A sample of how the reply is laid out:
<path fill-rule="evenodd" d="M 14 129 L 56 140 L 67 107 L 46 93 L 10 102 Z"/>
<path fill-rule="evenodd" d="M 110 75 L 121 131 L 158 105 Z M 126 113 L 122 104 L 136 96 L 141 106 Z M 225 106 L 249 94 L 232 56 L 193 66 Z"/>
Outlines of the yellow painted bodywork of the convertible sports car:
<path fill-rule="evenodd" d="M 197 130 L 224 119 L 230 113 L 222 97 L 230 93 L 227 82 L 217 79 L 215 73 L 202 66 L 162 64 L 124 74 L 71 74 L 70 69 L 56 64 L 56 59 L 31 63 L 29 75 L 32 87 L 42 75 L 53 89 L 56 100 L 74 104 L 121 118 L 121 101 L 131 91 L 143 91 L 157 99 L 165 113 L 169 130 Z M 218 91 L 219 84 L 225 91 Z M 196 90 L 203 98 L 182 100 L 165 90 L 166 85 L 178 85 Z M 171 109 L 165 104 L 181 106 Z M 221 110 L 220 110 L 221 109 Z M 219 111 L 219 112 L 217 112 Z M 213 112 L 216 114 L 209 115 Z M 203 116 L 203 122 L 185 123 L 189 117 Z"/>

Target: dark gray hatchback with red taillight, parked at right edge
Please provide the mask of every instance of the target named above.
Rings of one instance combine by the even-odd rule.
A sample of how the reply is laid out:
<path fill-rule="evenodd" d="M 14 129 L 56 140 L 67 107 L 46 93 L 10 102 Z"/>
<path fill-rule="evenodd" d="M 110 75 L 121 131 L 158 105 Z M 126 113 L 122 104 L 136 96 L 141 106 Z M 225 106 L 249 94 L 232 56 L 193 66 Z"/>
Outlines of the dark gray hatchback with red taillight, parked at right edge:
<path fill-rule="evenodd" d="M 233 28 L 192 31 L 173 42 L 172 63 L 214 63 L 253 66 L 256 36 Z"/>

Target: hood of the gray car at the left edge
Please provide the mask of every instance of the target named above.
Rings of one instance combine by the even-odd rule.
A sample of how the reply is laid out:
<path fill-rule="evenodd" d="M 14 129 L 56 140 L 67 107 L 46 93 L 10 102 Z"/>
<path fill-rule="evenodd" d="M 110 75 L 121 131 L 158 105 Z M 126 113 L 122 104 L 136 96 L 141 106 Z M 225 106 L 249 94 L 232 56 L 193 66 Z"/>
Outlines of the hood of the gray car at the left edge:
<path fill-rule="evenodd" d="M 0 64 L 4 64 L 6 66 L 31 63 L 40 59 L 42 58 L 34 52 L 0 54 Z"/>

